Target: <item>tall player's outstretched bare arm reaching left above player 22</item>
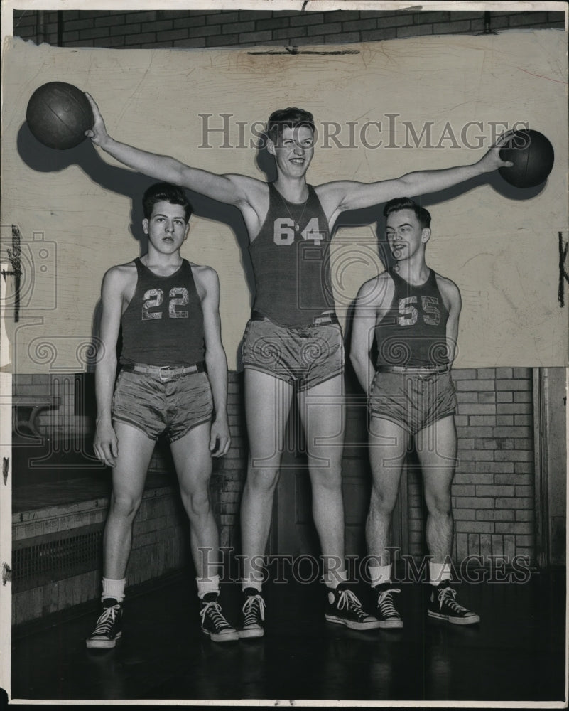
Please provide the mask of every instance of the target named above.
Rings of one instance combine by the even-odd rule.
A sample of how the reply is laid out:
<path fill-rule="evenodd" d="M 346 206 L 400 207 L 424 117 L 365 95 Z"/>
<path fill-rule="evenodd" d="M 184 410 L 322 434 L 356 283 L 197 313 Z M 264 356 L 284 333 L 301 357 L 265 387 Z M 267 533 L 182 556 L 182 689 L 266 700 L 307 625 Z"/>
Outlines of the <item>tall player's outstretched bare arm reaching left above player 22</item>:
<path fill-rule="evenodd" d="M 99 107 L 97 107 L 92 96 L 87 93 L 85 95 L 91 104 L 94 116 L 93 127 L 87 130 L 85 135 L 96 146 L 116 158 L 117 161 L 121 161 L 129 168 L 139 171 L 139 173 L 188 188 L 188 190 L 193 190 L 222 203 L 239 205 L 239 203 L 247 202 L 247 183 L 248 181 L 254 181 L 254 178 L 238 175 L 216 175 L 198 168 L 190 168 L 190 166 L 186 166 L 169 156 L 148 153 L 134 148 L 134 146 L 119 143 L 107 133 Z"/>

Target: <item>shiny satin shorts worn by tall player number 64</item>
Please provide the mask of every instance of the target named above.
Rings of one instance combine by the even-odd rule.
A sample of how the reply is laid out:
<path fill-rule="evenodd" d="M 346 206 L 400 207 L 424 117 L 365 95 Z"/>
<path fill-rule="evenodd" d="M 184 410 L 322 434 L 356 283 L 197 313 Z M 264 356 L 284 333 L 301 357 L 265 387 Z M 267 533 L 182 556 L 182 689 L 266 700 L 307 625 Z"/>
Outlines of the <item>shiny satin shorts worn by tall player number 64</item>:
<path fill-rule="evenodd" d="M 249 321 L 243 338 L 244 368 L 261 370 L 308 390 L 344 370 L 340 324 L 287 328 L 273 321 Z"/>

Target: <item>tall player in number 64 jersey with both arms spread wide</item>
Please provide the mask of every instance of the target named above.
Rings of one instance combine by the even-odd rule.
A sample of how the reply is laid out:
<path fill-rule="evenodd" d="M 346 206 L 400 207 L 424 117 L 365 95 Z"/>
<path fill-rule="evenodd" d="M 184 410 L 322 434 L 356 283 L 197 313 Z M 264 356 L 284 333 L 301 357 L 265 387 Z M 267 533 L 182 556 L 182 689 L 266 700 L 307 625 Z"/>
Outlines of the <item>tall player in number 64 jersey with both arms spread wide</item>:
<path fill-rule="evenodd" d="M 119 143 L 109 137 L 97 105 L 87 97 L 94 125 L 85 133 L 95 145 L 136 171 L 234 205 L 249 233 L 256 297 L 243 347 L 249 466 L 241 508 L 244 618 L 239 635 L 263 635 L 262 560 L 293 397 L 307 442 L 327 592 L 325 617 L 351 629 L 376 628 L 379 622 L 364 612 L 347 584 L 341 472 L 344 351 L 332 298 L 330 237 L 344 210 L 444 190 L 509 165 L 499 157 L 501 142 L 468 166 L 312 187 L 306 173 L 315 148 L 313 116 L 304 109 L 281 109 L 271 114 L 266 127 L 266 149 L 277 173 L 276 181 L 266 183 L 217 175 Z"/>

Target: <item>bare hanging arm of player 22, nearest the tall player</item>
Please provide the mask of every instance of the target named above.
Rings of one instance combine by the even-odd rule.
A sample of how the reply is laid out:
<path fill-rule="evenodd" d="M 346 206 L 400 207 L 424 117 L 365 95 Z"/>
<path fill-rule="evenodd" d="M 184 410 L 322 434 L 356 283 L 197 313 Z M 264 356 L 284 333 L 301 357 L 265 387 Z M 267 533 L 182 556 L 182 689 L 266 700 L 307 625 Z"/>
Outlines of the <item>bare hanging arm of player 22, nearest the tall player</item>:
<path fill-rule="evenodd" d="M 195 269 L 195 268 L 194 268 Z M 227 358 L 221 339 L 220 324 L 220 282 L 216 272 L 210 267 L 197 267 L 198 293 L 202 299 L 203 326 L 205 336 L 205 364 L 212 388 L 215 419 L 210 433 L 212 456 L 223 456 L 229 451 L 231 437 L 227 421 Z"/>

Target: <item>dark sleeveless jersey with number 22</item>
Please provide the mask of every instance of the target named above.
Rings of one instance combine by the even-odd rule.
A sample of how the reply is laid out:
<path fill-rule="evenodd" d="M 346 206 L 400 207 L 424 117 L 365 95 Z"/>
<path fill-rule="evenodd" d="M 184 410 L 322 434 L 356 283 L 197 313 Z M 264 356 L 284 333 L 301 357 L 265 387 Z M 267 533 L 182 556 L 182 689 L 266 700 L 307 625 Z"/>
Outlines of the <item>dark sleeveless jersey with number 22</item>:
<path fill-rule="evenodd" d="M 122 315 L 120 361 L 193 365 L 204 359 L 203 313 L 192 267 L 183 260 L 170 277 L 159 277 L 134 260 L 138 281 Z"/>

